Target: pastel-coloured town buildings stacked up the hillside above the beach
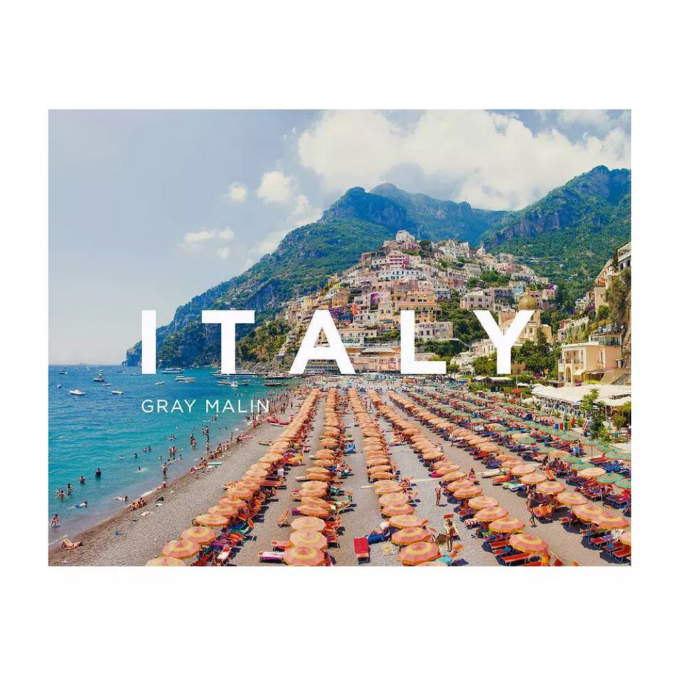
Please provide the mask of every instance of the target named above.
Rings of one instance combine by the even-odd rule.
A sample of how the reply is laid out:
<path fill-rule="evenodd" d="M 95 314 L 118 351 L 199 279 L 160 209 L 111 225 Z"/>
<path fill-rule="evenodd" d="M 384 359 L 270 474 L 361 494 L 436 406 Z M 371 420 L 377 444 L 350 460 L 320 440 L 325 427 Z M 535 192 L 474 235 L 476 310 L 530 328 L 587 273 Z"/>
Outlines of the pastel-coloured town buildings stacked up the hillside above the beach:
<path fill-rule="evenodd" d="M 617 327 L 608 297 L 630 265 L 628 242 L 608 260 L 584 297 L 575 301 L 574 314 L 559 317 L 558 286 L 517 257 L 493 255 L 484 246 L 474 250 L 455 240 L 417 241 L 400 230 L 379 250 L 364 252 L 357 265 L 330 277 L 321 291 L 288 302 L 284 321 L 289 332 L 277 360 L 297 350 L 313 312 L 324 309 L 330 311 L 356 372 L 398 372 L 398 315 L 415 310 L 417 359 L 444 357 L 449 372 L 481 380 L 491 377 L 495 346 L 485 332 L 472 340 L 463 337 L 449 315 L 471 318 L 472 310 L 490 310 L 504 332 L 517 310 L 533 310 L 514 349 L 518 354 L 519 348 L 539 346 L 556 359 L 553 368 L 535 370 L 536 384 L 553 389 L 592 383 L 620 387 L 620 393 L 628 396 L 630 328 L 628 321 Z M 630 295 L 626 302 L 630 304 Z M 546 317 L 559 317 L 556 326 Z M 439 350 L 449 345 L 450 356 L 448 349 Z M 317 360 L 307 370 L 330 375 L 337 373 L 337 366 Z M 528 363 L 513 359 L 513 376 L 526 379 L 528 372 Z"/>

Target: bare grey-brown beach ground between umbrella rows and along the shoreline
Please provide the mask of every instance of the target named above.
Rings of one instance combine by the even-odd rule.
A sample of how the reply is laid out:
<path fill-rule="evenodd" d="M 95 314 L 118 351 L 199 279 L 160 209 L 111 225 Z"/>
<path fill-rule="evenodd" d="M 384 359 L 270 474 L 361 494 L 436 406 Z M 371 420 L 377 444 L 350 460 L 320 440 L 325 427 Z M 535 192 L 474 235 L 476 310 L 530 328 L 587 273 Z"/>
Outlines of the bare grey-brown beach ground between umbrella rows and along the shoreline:
<path fill-rule="evenodd" d="M 399 382 L 395 383 L 392 389 L 398 388 L 399 385 Z M 388 388 L 390 387 L 388 384 Z M 398 408 L 395 401 L 389 397 L 388 392 L 392 389 L 381 393 L 383 401 L 405 419 L 420 425 L 419 420 Z M 361 397 L 366 401 L 365 392 L 361 392 Z M 295 396 L 294 411 L 303 399 L 302 395 Z M 326 393 L 323 393 L 306 439 L 307 453 L 304 464 L 288 466 L 286 486 L 279 488 L 275 497 L 272 497 L 257 515 L 250 538 L 239 548 L 230 565 L 259 565 L 261 550 L 271 550 L 273 540 L 288 539 L 290 529 L 288 526 L 278 526 L 277 521 L 287 510 L 299 506 L 299 503 L 292 499 L 291 491 L 301 487 L 302 484 L 297 481 L 297 478 L 304 475 L 311 464 L 309 457 L 319 448 L 321 430 L 324 428 L 325 401 Z M 345 461 L 352 473 L 342 480 L 341 488 L 344 492 L 352 493 L 353 506 L 341 516 L 343 528 L 339 534 L 337 546 L 330 548 L 329 553 L 336 565 L 352 566 L 357 564 L 352 548 L 353 539 L 380 528 L 384 517 L 379 510 L 378 497 L 375 495 L 373 486 L 368 483 L 366 458 L 362 450 L 363 438 L 356 424 L 354 411 L 344 402 L 344 392 L 341 392 L 341 401 L 343 401 L 340 408 L 341 422 L 345 426 L 345 433 L 354 437 L 356 447 L 356 453 L 345 456 Z M 372 415 L 375 414 L 374 409 Z M 386 419 L 379 417 L 378 424 L 387 441 L 394 439 L 395 431 Z M 433 443 L 441 444 L 444 454 L 450 461 L 461 466 L 465 472 L 475 470 L 484 495 L 497 499 L 499 504 L 509 511 L 510 517 L 524 521 L 526 523 L 524 533 L 532 533 L 544 539 L 550 551 L 564 563 L 570 564 L 575 561 L 581 566 L 617 565 L 608 555 L 599 555 L 599 550 L 584 545 L 577 529 L 568 528 L 556 519 L 551 523 L 536 521 L 536 525 L 531 526 L 523 495 L 494 486 L 491 479 L 481 478 L 481 473 L 486 471 L 486 467 L 481 462 L 474 459 L 466 450 L 457 448 L 439 437 L 432 429 L 424 429 L 426 436 Z M 268 422 L 264 422 L 255 430 L 250 430 L 249 433 L 253 435 L 253 438 L 233 444 L 218 458 L 222 463 L 220 466 L 200 470 L 195 475 L 179 477 L 172 481 L 165 490 L 150 496 L 155 499 L 149 498 L 148 506 L 145 508 L 135 511 L 124 510 L 102 524 L 86 530 L 77 536 L 77 539 L 83 543 L 83 546 L 77 549 L 67 551 L 52 548 L 49 553 L 50 565 L 145 565 L 149 559 L 161 553 L 168 541 L 177 539 L 180 533 L 192 524 L 192 519 L 196 515 L 206 512 L 208 508 L 217 504 L 219 497 L 223 494 L 223 484 L 239 479 L 261 455 L 264 455 L 266 446 L 261 445 L 261 441 L 275 440 L 282 431 L 283 428 L 271 426 Z M 428 467 L 419 459 L 419 455 L 414 452 L 412 446 L 408 443 L 391 446 L 390 454 L 400 476 L 412 477 L 412 490 L 417 493 L 416 515 L 427 519 L 430 527 L 443 533 L 444 514 L 453 512 L 456 504 L 449 502 L 444 494 L 441 504 L 435 506 L 437 480 L 430 477 Z M 159 501 L 159 498 L 163 500 Z M 487 550 L 484 541 L 476 536 L 475 530 L 467 528 L 457 518 L 456 523 L 459 543 L 463 547 L 461 564 L 499 565 L 497 558 Z M 401 565 L 397 559 L 397 548 L 373 544 L 370 548 L 370 565 Z"/>

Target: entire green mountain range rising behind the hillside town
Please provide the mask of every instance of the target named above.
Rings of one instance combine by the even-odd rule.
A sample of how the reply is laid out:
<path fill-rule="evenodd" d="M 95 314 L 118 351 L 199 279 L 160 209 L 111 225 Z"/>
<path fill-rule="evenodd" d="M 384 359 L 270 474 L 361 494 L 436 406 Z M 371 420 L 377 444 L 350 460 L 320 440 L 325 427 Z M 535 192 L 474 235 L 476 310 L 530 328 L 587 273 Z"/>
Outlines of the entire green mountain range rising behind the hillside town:
<path fill-rule="evenodd" d="M 330 275 L 357 263 L 363 252 L 379 248 L 397 230 L 419 239 L 483 241 L 491 250 L 526 257 L 541 274 L 569 284 L 571 294 L 584 291 L 613 250 L 630 238 L 630 206 L 630 171 L 606 167 L 575 177 L 519 212 L 473 209 L 391 183 L 370 192 L 351 188 L 319 221 L 292 230 L 242 275 L 179 307 L 157 330 L 157 357 L 163 366 L 217 362 L 220 328 L 201 324 L 201 310 L 256 310 L 260 325 L 288 299 L 319 290 Z M 242 326 L 238 337 L 252 330 Z M 139 342 L 127 350 L 126 364 L 140 364 L 140 348 Z"/>

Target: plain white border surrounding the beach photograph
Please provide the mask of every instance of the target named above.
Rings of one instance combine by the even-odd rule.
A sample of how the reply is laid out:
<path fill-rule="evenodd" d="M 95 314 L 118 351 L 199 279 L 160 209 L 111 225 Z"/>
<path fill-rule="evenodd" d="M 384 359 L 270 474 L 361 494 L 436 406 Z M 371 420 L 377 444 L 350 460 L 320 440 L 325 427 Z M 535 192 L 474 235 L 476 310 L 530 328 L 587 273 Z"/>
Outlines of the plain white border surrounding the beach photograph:
<path fill-rule="evenodd" d="M 53 673 L 655 670 L 673 622 L 676 526 L 673 21 L 662 7 L 5 3 L 5 659 Z M 49 569 L 50 108 L 631 108 L 633 566 Z"/>

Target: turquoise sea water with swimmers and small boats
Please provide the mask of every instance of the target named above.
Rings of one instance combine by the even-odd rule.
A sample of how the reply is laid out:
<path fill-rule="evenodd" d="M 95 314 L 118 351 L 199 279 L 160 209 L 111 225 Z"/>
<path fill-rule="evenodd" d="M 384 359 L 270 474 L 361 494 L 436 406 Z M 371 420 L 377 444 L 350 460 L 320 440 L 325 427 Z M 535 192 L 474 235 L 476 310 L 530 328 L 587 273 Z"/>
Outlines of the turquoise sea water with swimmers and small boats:
<path fill-rule="evenodd" d="M 110 387 L 93 381 L 99 369 Z M 67 375 L 59 375 L 59 370 L 65 370 Z M 133 375 L 139 374 L 139 368 L 126 366 L 49 367 L 48 517 L 58 513 L 61 519 L 60 528 L 49 529 L 50 541 L 74 535 L 119 511 L 123 503 L 115 500 L 116 496 L 127 495 L 133 501 L 161 484 L 161 466 L 168 459 L 170 446 L 176 446 L 177 457 L 182 454 L 183 459 L 168 466 L 168 481 L 186 473 L 204 454 L 203 428 L 209 427 L 210 446 L 215 448 L 219 441 L 228 439 L 230 432 L 236 437 L 246 427 L 251 401 L 256 410 L 258 399 L 272 401 L 286 389 L 265 388 L 260 377 L 216 378 L 210 375 L 212 371 L 186 368 L 181 375 L 193 377 L 195 382 L 180 383 L 175 381 L 176 374 L 159 371 L 156 375 Z M 250 381 L 250 385 L 237 389 L 219 386 L 217 380 L 221 379 Z M 164 385 L 155 385 L 157 381 Z M 61 388 L 57 388 L 59 385 Z M 86 395 L 70 395 L 69 390 L 75 389 Z M 113 395 L 112 390 L 122 390 L 123 394 Z M 144 413 L 144 399 L 166 399 L 169 410 L 178 399 L 184 412 Z M 196 400 L 192 412 L 188 412 L 186 399 Z M 207 399 L 218 400 L 223 406 L 230 401 L 235 412 L 226 410 L 214 420 L 215 411 L 205 410 Z M 247 412 L 239 412 L 238 408 Z M 191 431 L 197 441 L 195 451 L 190 449 Z M 170 435 L 175 435 L 175 441 L 170 441 Z M 150 453 L 142 452 L 146 446 L 150 446 Z M 97 467 L 101 468 L 101 479 L 95 479 Z M 85 484 L 79 484 L 80 475 L 86 477 Z M 58 499 L 57 488 L 66 490 L 69 481 L 72 495 Z M 85 500 L 86 508 L 74 508 Z"/>

